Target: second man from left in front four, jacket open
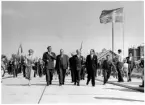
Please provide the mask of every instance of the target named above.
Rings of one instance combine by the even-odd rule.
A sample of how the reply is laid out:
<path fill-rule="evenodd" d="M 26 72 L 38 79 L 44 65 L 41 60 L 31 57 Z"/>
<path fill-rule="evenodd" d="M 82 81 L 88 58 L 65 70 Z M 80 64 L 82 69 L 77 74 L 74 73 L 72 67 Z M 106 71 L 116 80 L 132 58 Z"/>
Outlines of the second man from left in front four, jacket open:
<path fill-rule="evenodd" d="M 64 54 L 63 49 L 60 49 L 60 55 L 56 57 L 55 69 L 59 75 L 59 85 L 64 85 L 66 69 L 68 69 L 69 58 Z"/>

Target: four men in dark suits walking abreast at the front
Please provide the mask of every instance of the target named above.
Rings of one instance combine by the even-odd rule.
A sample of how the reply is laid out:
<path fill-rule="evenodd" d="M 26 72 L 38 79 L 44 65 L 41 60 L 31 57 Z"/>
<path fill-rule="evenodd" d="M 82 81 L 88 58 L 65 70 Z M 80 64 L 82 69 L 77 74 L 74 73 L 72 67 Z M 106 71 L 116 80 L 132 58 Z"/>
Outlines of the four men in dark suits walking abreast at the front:
<path fill-rule="evenodd" d="M 45 70 L 46 70 L 46 82 L 47 86 L 51 85 L 53 79 L 53 71 L 54 69 L 57 70 L 59 76 L 59 85 L 64 85 L 65 83 L 65 74 L 66 69 L 70 67 L 71 70 L 71 77 L 72 82 L 74 85 L 80 86 L 80 80 L 84 79 L 85 72 L 84 72 L 84 59 L 81 56 L 81 51 L 78 49 L 76 50 L 76 55 L 72 55 L 69 58 L 66 54 L 64 54 L 64 50 L 60 49 L 60 54 L 58 56 L 52 52 L 51 46 L 47 47 L 47 52 L 43 54 L 43 61 L 45 63 Z M 54 66 L 54 60 L 56 60 L 56 65 Z M 88 73 L 88 80 L 92 79 L 92 86 L 95 86 L 95 76 L 97 70 L 97 56 L 95 55 L 95 51 L 91 49 L 90 55 L 87 56 L 86 59 L 86 68 Z"/>

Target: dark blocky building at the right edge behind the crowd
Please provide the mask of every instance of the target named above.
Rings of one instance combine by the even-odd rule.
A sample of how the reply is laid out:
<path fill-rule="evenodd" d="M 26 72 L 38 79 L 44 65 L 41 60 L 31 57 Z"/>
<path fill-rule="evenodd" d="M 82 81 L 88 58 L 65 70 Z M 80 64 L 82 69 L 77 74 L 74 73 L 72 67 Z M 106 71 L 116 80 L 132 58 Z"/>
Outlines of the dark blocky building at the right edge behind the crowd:
<path fill-rule="evenodd" d="M 135 60 L 140 60 L 142 56 L 144 56 L 144 46 L 138 46 L 137 48 L 132 47 L 128 49 L 128 55 L 132 53 Z"/>

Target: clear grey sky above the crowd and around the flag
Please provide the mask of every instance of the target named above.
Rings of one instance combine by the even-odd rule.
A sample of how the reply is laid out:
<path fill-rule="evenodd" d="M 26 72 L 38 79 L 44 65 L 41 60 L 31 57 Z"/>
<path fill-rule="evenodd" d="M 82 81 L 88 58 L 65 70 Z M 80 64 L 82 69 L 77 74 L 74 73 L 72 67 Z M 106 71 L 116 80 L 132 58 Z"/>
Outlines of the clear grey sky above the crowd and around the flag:
<path fill-rule="evenodd" d="M 24 54 L 31 48 L 42 57 L 47 46 L 59 54 L 75 52 L 83 41 L 82 54 L 90 49 L 112 49 L 112 24 L 101 24 L 102 10 L 124 7 L 124 56 L 128 48 L 144 42 L 143 1 L 2 1 L 2 54 Z M 122 23 L 114 25 L 114 51 L 123 49 Z"/>

